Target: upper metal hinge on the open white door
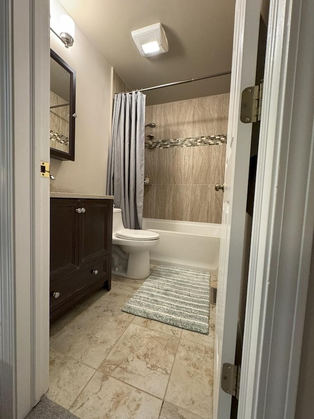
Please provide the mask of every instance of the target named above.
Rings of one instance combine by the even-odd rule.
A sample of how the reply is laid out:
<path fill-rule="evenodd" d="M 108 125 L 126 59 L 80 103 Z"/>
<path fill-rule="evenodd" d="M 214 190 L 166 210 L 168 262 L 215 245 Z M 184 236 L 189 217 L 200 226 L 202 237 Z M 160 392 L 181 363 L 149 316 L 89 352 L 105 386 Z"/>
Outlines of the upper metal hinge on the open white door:
<path fill-rule="evenodd" d="M 242 92 L 240 120 L 245 124 L 261 120 L 263 82 L 246 87 Z"/>

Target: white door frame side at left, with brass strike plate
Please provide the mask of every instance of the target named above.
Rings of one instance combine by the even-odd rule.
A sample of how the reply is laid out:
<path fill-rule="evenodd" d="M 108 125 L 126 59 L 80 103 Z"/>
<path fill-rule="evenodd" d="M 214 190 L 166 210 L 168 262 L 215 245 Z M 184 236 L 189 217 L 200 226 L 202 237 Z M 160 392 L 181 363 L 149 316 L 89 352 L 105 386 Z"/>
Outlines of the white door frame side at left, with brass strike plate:
<path fill-rule="evenodd" d="M 0 4 L 0 416 L 49 385 L 49 1 Z"/>

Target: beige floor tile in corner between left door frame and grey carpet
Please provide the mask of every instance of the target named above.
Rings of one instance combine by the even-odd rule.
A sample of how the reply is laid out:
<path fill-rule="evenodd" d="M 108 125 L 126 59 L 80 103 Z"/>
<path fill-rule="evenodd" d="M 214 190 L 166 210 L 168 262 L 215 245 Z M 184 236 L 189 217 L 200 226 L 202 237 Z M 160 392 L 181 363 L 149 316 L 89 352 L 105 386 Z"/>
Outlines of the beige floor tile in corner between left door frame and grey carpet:
<path fill-rule="evenodd" d="M 47 397 L 69 409 L 95 370 L 51 349 L 50 385 Z"/>

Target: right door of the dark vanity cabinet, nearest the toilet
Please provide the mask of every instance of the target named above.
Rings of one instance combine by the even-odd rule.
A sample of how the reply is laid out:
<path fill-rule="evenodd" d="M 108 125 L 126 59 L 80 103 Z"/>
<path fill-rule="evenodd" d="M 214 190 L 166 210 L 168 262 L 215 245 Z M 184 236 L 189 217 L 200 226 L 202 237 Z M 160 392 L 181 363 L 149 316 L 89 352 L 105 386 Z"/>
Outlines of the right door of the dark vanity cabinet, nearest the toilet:
<path fill-rule="evenodd" d="M 105 256 L 111 249 L 112 201 L 85 199 L 79 201 L 85 212 L 79 214 L 78 264 L 86 265 Z"/>

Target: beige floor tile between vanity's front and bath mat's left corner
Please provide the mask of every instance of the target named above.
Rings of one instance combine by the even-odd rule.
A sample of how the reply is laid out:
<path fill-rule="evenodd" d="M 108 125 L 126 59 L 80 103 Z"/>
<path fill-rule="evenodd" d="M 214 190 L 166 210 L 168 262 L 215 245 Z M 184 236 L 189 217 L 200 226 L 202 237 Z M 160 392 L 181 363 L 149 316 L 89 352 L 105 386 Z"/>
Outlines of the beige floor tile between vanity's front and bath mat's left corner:
<path fill-rule="evenodd" d="M 110 292 L 108 292 L 108 294 L 104 295 L 96 303 L 94 303 L 91 308 L 108 316 L 121 317 L 125 320 L 130 320 L 131 322 L 134 316 L 123 313 L 121 309 L 133 294 L 134 291 L 113 288 Z"/>

